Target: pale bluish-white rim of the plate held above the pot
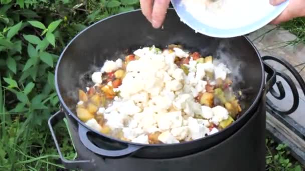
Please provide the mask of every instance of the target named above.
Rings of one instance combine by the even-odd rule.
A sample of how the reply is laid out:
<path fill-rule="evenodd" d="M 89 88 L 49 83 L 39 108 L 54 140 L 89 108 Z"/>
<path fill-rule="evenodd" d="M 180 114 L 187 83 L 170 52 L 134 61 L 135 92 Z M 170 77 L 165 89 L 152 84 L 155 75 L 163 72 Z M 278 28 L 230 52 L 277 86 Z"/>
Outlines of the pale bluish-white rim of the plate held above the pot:
<path fill-rule="evenodd" d="M 172 4 L 178 14 L 178 16 L 181 18 L 181 20 L 189 25 L 191 28 L 193 28 L 196 32 L 200 32 L 202 34 L 213 36 L 213 37 L 235 37 L 244 35 L 247 33 L 250 33 L 252 31 L 255 31 L 264 25 L 268 24 L 270 21 L 272 21 L 274 18 L 276 18 L 288 5 L 289 0 L 286 0 L 285 2 L 272 7 L 272 8 L 266 8 L 263 10 L 261 7 L 255 7 L 253 9 L 253 6 L 245 6 L 248 8 L 251 8 L 252 12 L 263 12 L 263 17 L 256 19 L 253 22 L 248 22 L 250 24 L 245 24 L 237 28 L 216 28 L 213 26 L 210 26 L 207 23 L 203 23 L 202 21 L 199 21 L 196 19 L 191 13 L 189 13 L 186 10 L 185 5 L 182 3 L 182 0 L 171 0 Z M 269 0 L 266 0 L 269 3 Z M 255 9 L 256 8 L 256 9 Z M 221 21 L 219 21 L 221 22 Z"/>

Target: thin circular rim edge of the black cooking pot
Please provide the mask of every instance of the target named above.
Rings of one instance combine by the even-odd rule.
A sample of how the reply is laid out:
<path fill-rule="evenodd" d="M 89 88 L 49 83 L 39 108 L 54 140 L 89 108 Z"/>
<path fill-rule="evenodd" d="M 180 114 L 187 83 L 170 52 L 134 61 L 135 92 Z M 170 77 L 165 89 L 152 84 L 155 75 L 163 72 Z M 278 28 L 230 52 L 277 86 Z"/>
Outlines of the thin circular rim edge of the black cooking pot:
<path fill-rule="evenodd" d="M 95 132 L 97 133 L 98 135 L 101 135 L 101 136 L 104 136 L 104 137 L 107 137 L 111 140 L 115 140 L 115 141 L 118 141 L 120 143 L 127 143 L 127 144 L 130 144 L 130 145 L 136 145 L 136 146 L 143 146 L 143 147 L 158 147 L 158 146 L 175 146 L 175 145 L 183 145 L 183 144 L 187 144 L 187 143 L 192 143 L 192 142 L 195 142 L 195 141 L 200 141 L 200 140 L 204 140 L 204 139 L 207 139 L 207 138 L 213 138 L 215 136 L 219 136 L 221 135 L 221 133 L 223 131 L 225 131 L 226 129 L 229 129 L 230 127 L 232 127 L 234 124 L 237 124 L 238 121 L 240 119 L 242 119 L 243 117 L 245 117 L 247 114 L 250 114 L 249 112 L 256 106 L 256 104 L 259 102 L 260 100 L 260 97 L 263 93 L 263 89 L 264 89 L 264 85 L 265 85 L 265 73 L 264 73 L 264 66 L 263 66 L 263 61 L 261 59 L 261 56 L 257 50 L 257 48 L 254 46 L 253 42 L 248 38 L 246 37 L 245 35 L 242 35 L 242 36 L 239 36 L 239 37 L 243 37 L 245 38 L 249 43 L 250 45 L 254 48 L 256 54 L 257 54 L 257 57 L 258 57 L 258 60 L 260 62 L 260 65 L 261 65 L 261 70 L 262 70 L 262 81 L 261 81 L 261 84 L 260 84 L 260 88 L 259 88 L 259 92 L 258 94 L 256 95 L 255 99 L 254 99 L 254 102 L 249 106 L 249 108 L 244 112 L 243 115 L 241 115 L 237 120 L 235 120 L 232 124 L 230 124 L 228 127 L 212 134 L 212 135 L 207 135 L 205 137 L 202 137 L 202 138 L 199 138 L 199 139 L 194 139 L 194 140 L 191 140 L 191 141 L 185 141 L 185 142 L 179 142 L 179 143 L 171 143 L 171 144 L 142 144 L 142 143 L 135 143 L 135 142 L 129 142 L 129 141 L 124 141 L 124 140 L 121 140 L 121 139 L 118 139 L 116 137 L 112 137 L 112 136 L 109 136 L 109 135 L 106 135 L 106 134 L 103 134 L 99 131 L 96 131 L 92 128 L 90 128 L 89 126 L 87 126 L 85 124 L 85 122 L 81 121 L 76 114 L 74 114 L 74 112 L 72 112 L 70 110 L 70 108 L 66 105 L 65 101 L 63 100 L 63 97 L 61 96 L 61 93 L 60 93 L 60 90 L 59 90 L 59 86 L 58 86 L 58 82 L 60 80 L 58 80 L 58 69 L 60 67 L 60 62 L 61 62 L 61 59 L 63 58 L 64 56 L 64 53 L 65 51 L 69 48 L 70 44 L 75 40 L 77 39 L 83 32 L 89 30 L 91 27 L 95 26 L 96 24 L 99 24 L 101 22 L 103 22 L 104 20 L 107 20 L 107 19 L 110 19 L 112 17 L 115 17 L 115 16 L 119 16 L 119 15 L 124 15 L 125 13 L 131 13 L 131 12 L 138 12 L 140 11 L 141 9 L 135 9 L 135 10 L 131 10 L 131 11 L 127 11 L 127 12 L 122 12 L 122 13 L 118 13 L 118 14 L 115 14 L 115 15 L 112 15 L 112 16 L 109 16 L 109 17 L 106 17 L 104 19 L 101 19 L 91 25 L 89 25 L 88 27 L 86 27 L 85 29 L 83 29 L 82 31 L 80 31 L 77 35 L 75 35 L 71 40 L 70 42 L 66 45 L 66 47 L 63 49 L 63 51 L 61 52 L 60 54 L 60 57 L 57 61 L 57 64 L 56 64 L 56 69 L 55 69 L 55 88 L 56 88 L 56 92 L 57 92 L 57 95 L 58 95 L 58 98 L 59 98 L 59 101 L 60 101 L 60 105 L 62 105 L 64 107 L 64 110 L 66 110 L 68 112 L 69 115 L 71 115 L 79 124 L 81 124 L 81 126 L 84 126 L 85 128 L 89 129 L 90 131 L 92 132 Z M 169 10 L 174 10 L 174 8 L 169 8 Z"/>

